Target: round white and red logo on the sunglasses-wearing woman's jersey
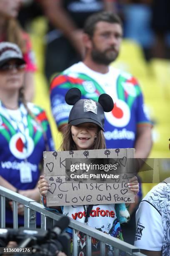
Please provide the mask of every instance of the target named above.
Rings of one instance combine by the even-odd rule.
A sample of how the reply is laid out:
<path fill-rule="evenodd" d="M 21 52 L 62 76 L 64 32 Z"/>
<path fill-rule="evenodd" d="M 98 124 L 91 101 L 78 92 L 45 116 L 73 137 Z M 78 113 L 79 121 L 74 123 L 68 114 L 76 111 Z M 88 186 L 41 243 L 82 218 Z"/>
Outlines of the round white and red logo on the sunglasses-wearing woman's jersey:
<path fill-rule="evenodd" d="M 30 136 L 27 137 L 27 149 L 24 147 L 24 141 L 22 133 L 17 133 L 10 139 L 10 151 L 18 159 L 29 157 L 34 150 L 34 142 Z"/>

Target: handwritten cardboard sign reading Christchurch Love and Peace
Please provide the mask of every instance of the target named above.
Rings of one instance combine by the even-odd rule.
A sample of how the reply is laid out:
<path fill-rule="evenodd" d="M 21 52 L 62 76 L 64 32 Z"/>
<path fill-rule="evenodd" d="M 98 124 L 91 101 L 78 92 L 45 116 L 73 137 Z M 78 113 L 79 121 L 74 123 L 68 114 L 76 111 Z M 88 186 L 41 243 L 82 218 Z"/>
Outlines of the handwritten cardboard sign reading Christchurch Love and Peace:
<path fill-rule="evenodd" d="M 47 206 L 95 205 L 134 202 L 134 192 L 128 188 L 133 177 L 132 166 L 127 159 L 135 157 L 134 148 L 116 148 L 80 151 L 44 152 L 44 174 L 51 188 L 47 192 Z M 67 182 L 66 159 L 117 159 L 122 167 L 120 179 L 112 183 Z M 77 161 L 77 160 L 76 160 Z"/>

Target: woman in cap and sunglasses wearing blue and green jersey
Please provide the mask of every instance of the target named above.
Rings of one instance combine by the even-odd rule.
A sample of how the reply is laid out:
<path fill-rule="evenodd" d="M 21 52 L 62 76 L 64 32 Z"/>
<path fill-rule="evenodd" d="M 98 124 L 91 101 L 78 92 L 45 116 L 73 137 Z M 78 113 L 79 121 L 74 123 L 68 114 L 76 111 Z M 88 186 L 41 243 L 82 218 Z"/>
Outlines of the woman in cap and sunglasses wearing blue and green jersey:
<path fill-rule="evenodd" d="M 0 43 L 0 185 L 39 201 L 42 152 L 54 148 L 45 112 L 23 96 L 24 70 L 20 48 Z M 6 224 L 11 226 L 12 203 L 7 206 Z M 19 225 L 24 223 L 23 212 L 18 205 Z"/>

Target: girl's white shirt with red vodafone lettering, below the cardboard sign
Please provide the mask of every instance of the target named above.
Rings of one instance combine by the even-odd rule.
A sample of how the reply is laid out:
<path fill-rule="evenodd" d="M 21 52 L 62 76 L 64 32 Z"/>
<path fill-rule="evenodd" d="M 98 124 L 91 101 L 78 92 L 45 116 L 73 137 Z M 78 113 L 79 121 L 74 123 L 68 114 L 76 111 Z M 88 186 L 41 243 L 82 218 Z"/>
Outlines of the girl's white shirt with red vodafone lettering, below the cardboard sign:
<path fill-rule="evenodd" d="M 83 205 L 70 205 L 63 207 L 63 214 L 67 217 L 72 218 L 73 220 L 80 221 L 85 223 L 85 209 Z M 110 236 L 122 238 L 122 230 L 120 223 L 117 220 L 115 213 L 115 204 L 108 205 L 93 205 L 88 217 L 87 225 L 96 228 L 104 233 L 107 233 Z M 70 230 L 70 229 L 69 229 Z M 71 240 L 72 243 L 72 240 Z M 107 252 L 112 250 L 110 246 L 106 247 Z M 92 255 L 100 253 L 100 241 L 95 238 L 92 238 Z M 86 236 L 84 233 L 78 233 L 78 255 L 86 254 Z"/>

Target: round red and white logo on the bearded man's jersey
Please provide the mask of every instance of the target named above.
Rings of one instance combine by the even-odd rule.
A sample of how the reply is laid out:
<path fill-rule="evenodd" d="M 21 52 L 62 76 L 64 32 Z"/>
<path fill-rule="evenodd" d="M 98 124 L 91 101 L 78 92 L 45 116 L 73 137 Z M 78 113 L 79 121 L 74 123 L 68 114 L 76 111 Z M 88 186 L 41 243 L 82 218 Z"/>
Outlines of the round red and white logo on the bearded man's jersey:
<path fill-rule="evenodd" d="M 111 112 L 105 113 L 107 122 L 116 127 L 124 127 L 130 121 L 130 109 L 123 101 L 117 99 Z"/>

